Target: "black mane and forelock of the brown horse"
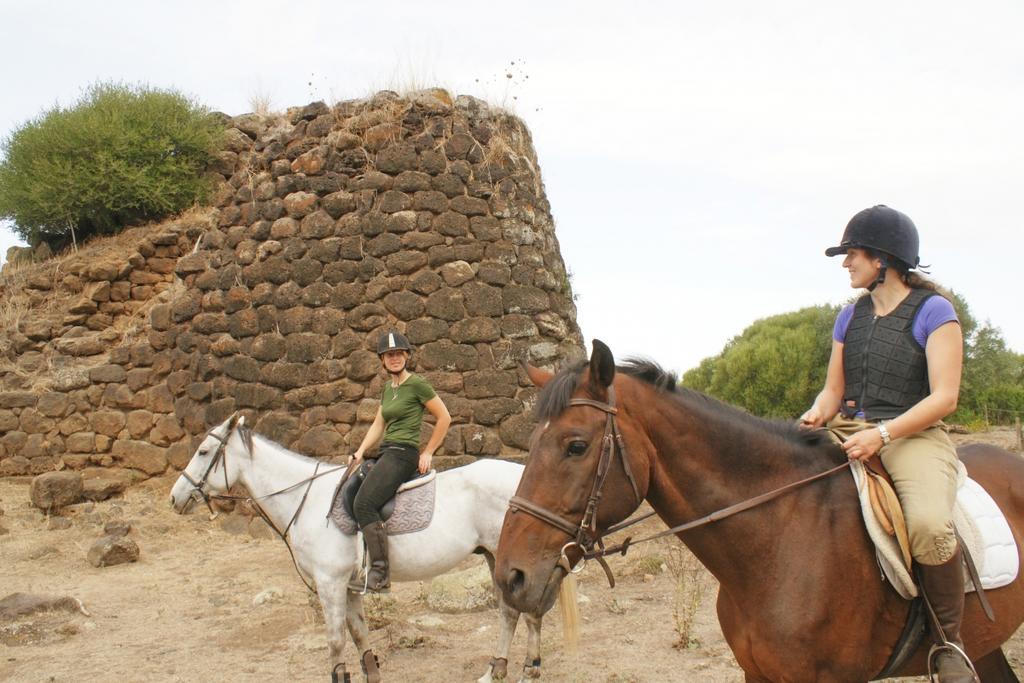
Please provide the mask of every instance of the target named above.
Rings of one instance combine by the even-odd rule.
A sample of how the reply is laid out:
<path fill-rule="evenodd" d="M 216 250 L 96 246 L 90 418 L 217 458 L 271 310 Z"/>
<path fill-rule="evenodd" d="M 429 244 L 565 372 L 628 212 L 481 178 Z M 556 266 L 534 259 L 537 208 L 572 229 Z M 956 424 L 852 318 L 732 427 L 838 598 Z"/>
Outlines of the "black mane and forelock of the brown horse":
<path fill-rule="evenodd" d="M 569 399 L 580 387 L 583 370 L 586 367 L 586 360 L 573 362 L 562 369 L 544 386 L 537 398 L 536 410 L 539 420 L 555 418 L 568 408 Z M 795 445 L 818 446 L 822 443 L 831 443 L 819 430 L 807 431 L 788 422 L 759 418 L 699 391 L 683 387 L 679 384 L 675 373 L 647 358 L 627 358 L 623 365 L 616 366 L 615 372 L 651 386 L 658 394 L 676 401 L 688 411 L 710 414 L 713 418 L 717 417 L 733 427 L 753 428 Z"/>

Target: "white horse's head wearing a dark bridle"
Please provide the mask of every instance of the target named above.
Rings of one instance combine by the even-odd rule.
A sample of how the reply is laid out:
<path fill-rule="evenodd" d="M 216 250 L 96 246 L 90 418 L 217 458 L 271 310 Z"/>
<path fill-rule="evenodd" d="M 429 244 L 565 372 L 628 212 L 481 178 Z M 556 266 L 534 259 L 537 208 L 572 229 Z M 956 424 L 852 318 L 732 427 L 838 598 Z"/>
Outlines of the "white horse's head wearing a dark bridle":
<path fill-rule="evenodd" d="M 206 433 L 171 487 L 171 506 L 179 514 L 187 512 L 197 501 L 209 507 L 211 495 L 225 494 L 238 481 L 238 459 L 248 457 L 249 451 L 239 433 L 245 420 L 236 413 Z"/>

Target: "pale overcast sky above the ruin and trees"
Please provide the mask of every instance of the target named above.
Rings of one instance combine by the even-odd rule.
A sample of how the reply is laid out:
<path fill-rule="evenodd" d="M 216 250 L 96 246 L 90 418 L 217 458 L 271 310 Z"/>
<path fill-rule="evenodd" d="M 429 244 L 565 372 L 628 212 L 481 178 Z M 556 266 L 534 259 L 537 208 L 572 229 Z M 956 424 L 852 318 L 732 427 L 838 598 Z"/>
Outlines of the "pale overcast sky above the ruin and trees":
<path fill-rule="evenodd" d="M 1024 351 L 1021 35 L 1018 0 L 0 0 L 0 134 L 96 81 L 230 115 L 439 85 L 529 126 L 584 337 L 618 358 L 682 372 L 846 300 L 823 251 L 880 203 Z"/>

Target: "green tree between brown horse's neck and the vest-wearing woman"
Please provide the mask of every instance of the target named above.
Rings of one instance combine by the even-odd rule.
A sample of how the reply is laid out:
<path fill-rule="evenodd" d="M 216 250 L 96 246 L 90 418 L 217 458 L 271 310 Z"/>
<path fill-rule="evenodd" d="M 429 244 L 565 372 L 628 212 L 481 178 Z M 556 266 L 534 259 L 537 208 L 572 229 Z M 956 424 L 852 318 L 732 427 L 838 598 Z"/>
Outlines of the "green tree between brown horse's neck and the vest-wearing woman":
<path fill-rule="evenodd" d="M 757 321 L 682 383 L 756 415 L 795 418 L 824 386 L 838 313 L 822 305 Z"/>

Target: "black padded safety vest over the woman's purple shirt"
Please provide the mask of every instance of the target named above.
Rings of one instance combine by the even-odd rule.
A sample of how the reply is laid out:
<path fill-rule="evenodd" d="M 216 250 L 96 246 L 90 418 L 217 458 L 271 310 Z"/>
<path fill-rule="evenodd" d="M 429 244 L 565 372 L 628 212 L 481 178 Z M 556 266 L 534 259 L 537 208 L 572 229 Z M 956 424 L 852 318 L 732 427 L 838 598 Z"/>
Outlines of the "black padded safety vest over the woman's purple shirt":
<path fill-rule="evenodd" d="M 931 392 L 925 349 L 913 338 L 913 318 L 931 290 L 913 289 L 888 315 L 874 314 L 871 296 L 855 304 L 843 345 L 843 415 L 868 421 L 905 413 Z"/>

